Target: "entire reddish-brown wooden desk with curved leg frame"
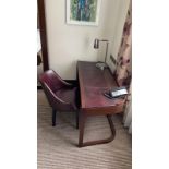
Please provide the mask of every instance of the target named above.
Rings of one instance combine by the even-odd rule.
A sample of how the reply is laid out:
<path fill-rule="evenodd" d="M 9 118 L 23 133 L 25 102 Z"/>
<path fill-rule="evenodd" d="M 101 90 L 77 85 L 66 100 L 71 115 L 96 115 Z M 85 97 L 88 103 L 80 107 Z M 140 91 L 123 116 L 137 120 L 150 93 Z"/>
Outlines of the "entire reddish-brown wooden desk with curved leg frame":
<path fill-rule="evenodd" d="M 109 99 L 102 95 L 104 92 L 118 87 L 110 70 L 105 69 L 101 71 L 96 68 L 95 64 L 96 62 L 77 62 L 77 77 L 81 95 L 80 147 L 111 142 L 116 135 L 111 114 L 123 111 L 124 99 Z M 111 136 L 105 140 L 83 143 L 85 120 L 88 116 L 106 116 L 111 129 Z"/>

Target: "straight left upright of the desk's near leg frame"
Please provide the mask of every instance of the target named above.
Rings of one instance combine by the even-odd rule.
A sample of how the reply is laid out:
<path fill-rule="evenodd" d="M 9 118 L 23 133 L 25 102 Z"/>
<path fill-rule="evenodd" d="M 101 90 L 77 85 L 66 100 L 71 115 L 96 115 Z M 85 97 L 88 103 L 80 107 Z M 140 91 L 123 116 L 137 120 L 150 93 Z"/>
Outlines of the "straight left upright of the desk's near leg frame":
<path fill-rule="evenodd" d="M 86 114 L 81 112 L 80 116 L 80 137 L 79 137 L 79 147 L 83 146 L 83 135 L 84 135 L 84 128 L 85 128 Z"/>

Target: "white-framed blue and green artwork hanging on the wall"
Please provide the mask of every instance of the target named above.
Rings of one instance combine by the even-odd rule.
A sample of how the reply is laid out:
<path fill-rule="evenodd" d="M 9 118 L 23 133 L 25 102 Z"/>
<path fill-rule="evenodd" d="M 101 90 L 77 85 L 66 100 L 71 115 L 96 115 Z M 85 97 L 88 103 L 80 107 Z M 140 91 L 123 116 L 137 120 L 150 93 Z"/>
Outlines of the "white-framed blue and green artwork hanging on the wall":
<path fill-rule="evenodd" d="M 67 23 L 98 26 L 101 0 L 67 0 Z"/>

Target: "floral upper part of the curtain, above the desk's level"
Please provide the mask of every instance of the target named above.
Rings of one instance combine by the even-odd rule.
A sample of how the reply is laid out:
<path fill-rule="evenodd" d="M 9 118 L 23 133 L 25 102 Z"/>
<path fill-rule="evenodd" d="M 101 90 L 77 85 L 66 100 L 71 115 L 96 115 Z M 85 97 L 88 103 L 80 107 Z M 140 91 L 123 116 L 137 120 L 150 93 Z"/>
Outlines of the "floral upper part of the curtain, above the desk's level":
<path fill-rule="evenodd" d="M 132 77 L 132 5 L 128 10 L 121 46 L 117 58 L 116 79 L 119 86 L 129 86 Z"/>

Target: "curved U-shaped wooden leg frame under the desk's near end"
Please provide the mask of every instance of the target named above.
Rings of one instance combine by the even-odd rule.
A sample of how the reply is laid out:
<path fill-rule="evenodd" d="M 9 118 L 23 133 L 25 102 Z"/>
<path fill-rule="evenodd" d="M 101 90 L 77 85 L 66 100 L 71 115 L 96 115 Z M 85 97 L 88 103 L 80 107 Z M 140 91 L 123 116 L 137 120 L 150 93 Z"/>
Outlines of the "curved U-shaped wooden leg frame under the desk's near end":
<path fill-rule="evenodd" d="M 90 141 L 90 142 L 85 142 L 85 143 L 83 143 L 83 135 L 84 135 L 84 126 L 85 126 L 86 116 L 82 114 L 81 118 L 82 119 L 80 120 L 80 140 L 79 140 L 80 147 L 90 146 L 90 145 L 96 145 L 96 144 L 105 144 L 105 143 L 109 143 L 109 142 L 113 141 L 113 138 L 116 136 L 116 130 L 114 130 L 114 125 L 113 125 L 110 114 L 107 114 L 107 119 L 108 119 L 108 122 L 109 122 L 109 125 L 111 129 L 111 135 L 105 140 L 97 140 L 97 141 Z"/>

